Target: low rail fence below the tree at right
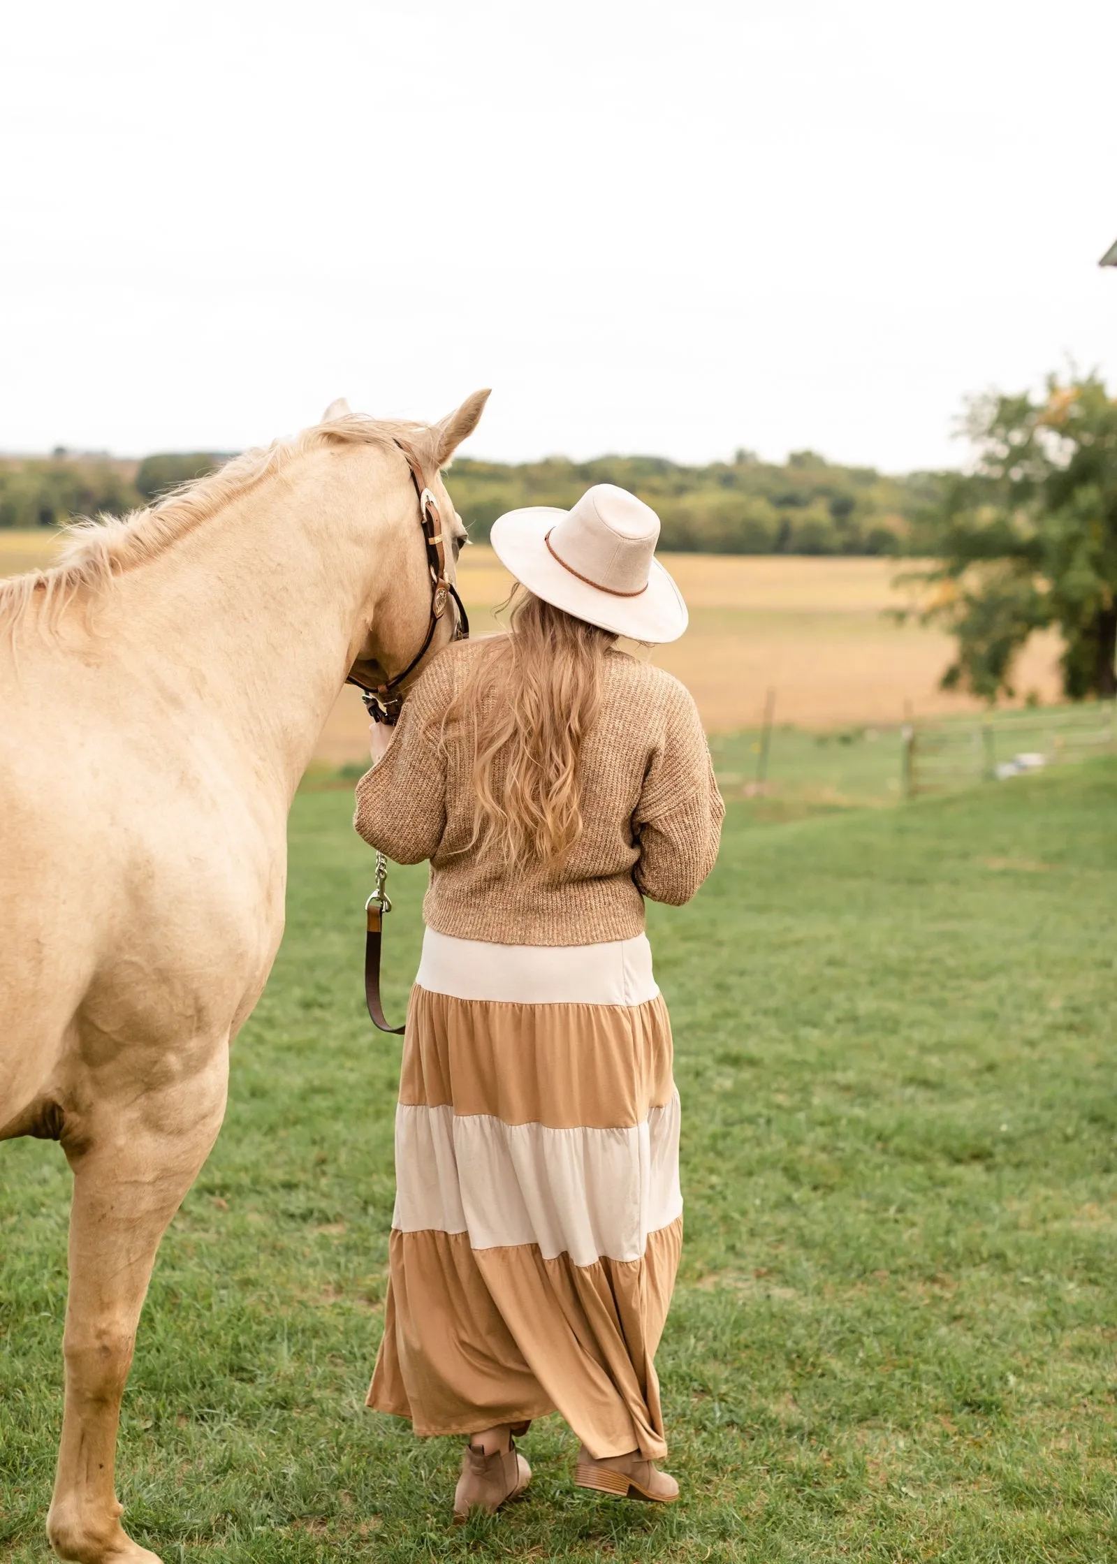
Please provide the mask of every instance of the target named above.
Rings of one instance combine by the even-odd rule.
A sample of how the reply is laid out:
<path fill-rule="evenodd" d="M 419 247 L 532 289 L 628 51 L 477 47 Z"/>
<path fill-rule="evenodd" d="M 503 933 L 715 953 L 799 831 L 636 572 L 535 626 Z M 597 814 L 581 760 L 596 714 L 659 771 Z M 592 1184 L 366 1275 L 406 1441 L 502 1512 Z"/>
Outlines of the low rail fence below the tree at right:
<path fill-rule="evenodd" d="M 1117 748 L 1114 701 L 1025 707 L 967 721 L 943 718 L 901 729 L 904 798 L 997 782 Z"/>

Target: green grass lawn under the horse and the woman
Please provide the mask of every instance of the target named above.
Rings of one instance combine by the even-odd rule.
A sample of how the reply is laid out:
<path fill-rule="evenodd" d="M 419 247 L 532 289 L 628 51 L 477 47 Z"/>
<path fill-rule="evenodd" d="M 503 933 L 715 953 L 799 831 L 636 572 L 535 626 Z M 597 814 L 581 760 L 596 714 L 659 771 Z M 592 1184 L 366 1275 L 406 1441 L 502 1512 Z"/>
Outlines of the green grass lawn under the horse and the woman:
<path fill-rule="evenodd" d="M 454 1440 L 363 1409 L 397 1042 L 361 1013 L 371 856 L 296 802 L 289 932 L 228 1120 L 160 1256 L 120 1442 L 167 1564 L 1089 1561 L 1117 1551 L 1117 765 L 790 824 L 731 805 L 652 909 L 687 1240 L 659 1356 L 670 1511 L 571 1484 L 449 1525 Z M 390 1013 L 422 874 L 396 871 Z M 0 1148 L 0 1553 L 41 1542 L 67 1176 Z"/>

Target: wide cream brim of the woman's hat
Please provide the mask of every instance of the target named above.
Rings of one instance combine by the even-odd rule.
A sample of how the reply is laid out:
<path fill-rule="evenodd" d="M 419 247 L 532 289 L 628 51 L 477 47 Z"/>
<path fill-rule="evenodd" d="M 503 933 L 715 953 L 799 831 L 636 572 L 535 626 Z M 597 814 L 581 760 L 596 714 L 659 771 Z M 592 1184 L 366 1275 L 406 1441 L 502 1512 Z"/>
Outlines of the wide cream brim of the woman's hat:
<path fill-rule="evenodd" d="M 651 561 L 648 586 L 637 597 L 620 597 L 584 582 L 554 557 L 544 541 L 566 515 L 554 505 L 508 510 L 493 522 L 488 541 L 518 582 L 576 619 L 634 641 L 677 641 L 687 629 L 687 604 L 659 560 Z"/>

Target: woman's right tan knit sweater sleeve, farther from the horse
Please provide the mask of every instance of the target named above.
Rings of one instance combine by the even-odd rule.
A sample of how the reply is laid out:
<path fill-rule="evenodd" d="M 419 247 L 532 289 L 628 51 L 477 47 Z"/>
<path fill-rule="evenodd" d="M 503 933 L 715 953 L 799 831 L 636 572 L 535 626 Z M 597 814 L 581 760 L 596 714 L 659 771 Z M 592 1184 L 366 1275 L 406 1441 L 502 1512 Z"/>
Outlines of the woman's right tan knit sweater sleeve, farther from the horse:
<path fill-rule="evenodd" d="M 671 907 L 690 901 L 717 860 L 724 813 L 698 707 L 679 685 L 632 816 L 632 877 L 645 896 Z"/>

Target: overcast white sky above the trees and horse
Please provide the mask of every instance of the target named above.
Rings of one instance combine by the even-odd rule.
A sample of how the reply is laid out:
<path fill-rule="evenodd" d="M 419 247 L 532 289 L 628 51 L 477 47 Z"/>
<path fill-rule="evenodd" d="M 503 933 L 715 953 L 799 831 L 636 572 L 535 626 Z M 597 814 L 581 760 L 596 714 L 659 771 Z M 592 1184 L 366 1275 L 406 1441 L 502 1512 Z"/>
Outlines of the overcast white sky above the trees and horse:
<path fill-rule="evenodd" d="M 1112 0 L 88 0 L 0 44 L 0 449 L 959 463 L 1117 377 Z"/>

